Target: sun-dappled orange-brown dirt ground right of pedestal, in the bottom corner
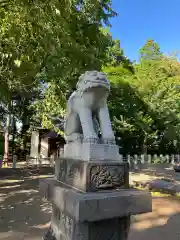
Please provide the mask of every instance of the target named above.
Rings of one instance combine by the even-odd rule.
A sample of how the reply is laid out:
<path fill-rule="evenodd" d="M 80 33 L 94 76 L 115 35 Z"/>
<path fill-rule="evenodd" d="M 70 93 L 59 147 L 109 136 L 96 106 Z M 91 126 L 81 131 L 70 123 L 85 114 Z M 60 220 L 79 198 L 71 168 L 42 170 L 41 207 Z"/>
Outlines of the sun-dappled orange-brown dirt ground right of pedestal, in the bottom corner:
<path fill-rule="evenodd" d="M 180 238 L 180 200 L 153 198 L 153 212 L 133 217 L 129 240 Z"/>

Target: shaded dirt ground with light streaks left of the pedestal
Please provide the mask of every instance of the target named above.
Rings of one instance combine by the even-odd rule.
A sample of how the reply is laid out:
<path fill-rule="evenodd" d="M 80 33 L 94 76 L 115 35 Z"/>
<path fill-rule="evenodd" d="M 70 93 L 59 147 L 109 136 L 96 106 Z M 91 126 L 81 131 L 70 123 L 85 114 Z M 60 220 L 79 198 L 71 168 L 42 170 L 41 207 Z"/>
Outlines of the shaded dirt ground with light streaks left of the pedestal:
<path fill-rule="evenodd" d="M 0 239 L 42 239 L 49 226 L 51 205 L 39 196 L 39 178 L 14 174 L 0 180 Z"/>

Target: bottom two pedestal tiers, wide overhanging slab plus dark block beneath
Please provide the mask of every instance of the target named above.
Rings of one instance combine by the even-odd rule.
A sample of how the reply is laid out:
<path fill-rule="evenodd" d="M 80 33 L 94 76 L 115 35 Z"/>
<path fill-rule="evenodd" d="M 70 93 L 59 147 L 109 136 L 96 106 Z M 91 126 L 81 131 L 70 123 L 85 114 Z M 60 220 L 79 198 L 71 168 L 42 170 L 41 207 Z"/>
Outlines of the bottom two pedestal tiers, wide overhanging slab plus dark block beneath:
<path fill-rule="evenodd" d="M 45 240 L 127 240 L 130 215 L 152 211 L 150 193 L 130 189 L 82 193 L 62 184 L 51 200 Z"/>

